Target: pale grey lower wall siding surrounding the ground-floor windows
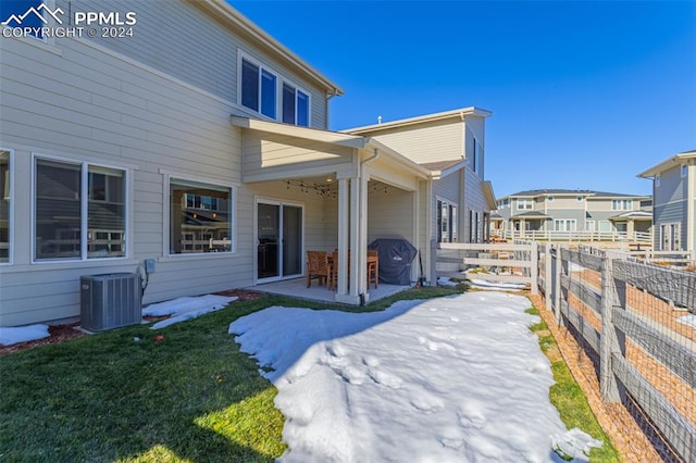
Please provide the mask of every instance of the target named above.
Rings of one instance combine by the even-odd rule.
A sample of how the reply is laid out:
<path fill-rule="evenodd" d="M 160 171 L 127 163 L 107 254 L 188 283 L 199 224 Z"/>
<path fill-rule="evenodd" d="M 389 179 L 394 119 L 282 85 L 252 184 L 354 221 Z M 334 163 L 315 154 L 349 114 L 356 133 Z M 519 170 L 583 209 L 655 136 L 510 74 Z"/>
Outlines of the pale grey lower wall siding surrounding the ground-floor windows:
<path fill-rule="evenodd" d="M 232 105 L 78 40 L 60 47 L 62 57 L 20 40 L 2 43 L 0 146 L 15 152 L 15 241 L 13 264 L 0 266 L 0 325 L 76 316 L 80 276 L 135 272 L 146 258 L 158 260 L 146 303 L 250 285 L 252 196 L 245 187 L 236 189 L 237 254 L 163 255 L 163 172 L 240 184 Z M 30 263 L 32 153 L 127 170 L 128 258 Z"/>

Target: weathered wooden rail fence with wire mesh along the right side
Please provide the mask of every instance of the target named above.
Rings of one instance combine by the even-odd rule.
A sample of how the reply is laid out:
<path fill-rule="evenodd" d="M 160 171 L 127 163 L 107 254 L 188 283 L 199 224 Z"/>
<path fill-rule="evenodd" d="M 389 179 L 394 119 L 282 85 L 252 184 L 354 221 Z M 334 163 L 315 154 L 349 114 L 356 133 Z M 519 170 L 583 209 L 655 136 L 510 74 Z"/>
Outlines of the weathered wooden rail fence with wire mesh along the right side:
<path fill-rule="evenodd" d="M 696 322 L 683 322 L 696 273 L 608 250 L 546 243 L 539 254 L 546 306 L 597 363 L 602 399 L 637 405 L 667 460 L 696 462 Z"/>

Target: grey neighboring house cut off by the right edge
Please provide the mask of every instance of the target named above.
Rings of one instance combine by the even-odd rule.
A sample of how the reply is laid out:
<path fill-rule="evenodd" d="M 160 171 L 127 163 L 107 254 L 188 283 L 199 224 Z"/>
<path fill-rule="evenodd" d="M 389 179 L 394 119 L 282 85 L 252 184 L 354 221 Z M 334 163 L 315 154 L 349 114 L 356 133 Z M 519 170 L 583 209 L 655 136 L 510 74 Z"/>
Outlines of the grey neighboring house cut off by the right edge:
<path fill-rule="evenodd" d="M 652 179 L 655 249 L 696 254 L 696 150 L 638 174 Z"/>

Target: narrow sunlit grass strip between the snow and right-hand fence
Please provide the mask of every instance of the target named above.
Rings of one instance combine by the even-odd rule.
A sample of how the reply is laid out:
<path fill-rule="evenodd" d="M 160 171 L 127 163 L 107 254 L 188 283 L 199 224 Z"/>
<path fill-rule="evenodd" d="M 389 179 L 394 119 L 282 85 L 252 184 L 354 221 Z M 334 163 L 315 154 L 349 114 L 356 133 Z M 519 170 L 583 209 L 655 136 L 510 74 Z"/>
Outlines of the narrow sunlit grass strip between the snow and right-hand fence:
<path fill-rule="evenodd" d="M 527 309 L 526 312 L 539 315 L 539 311 L 535 308 Z M 599 426 L 583 390 L 573 378 L 566 362 L 558 354 L 557 342 L 548 330 L 548 325 L 542 320 L 539 323 L 532 325 L 530 329 L 537 334 L 539 347 L 551 362 L 551 371 L 556 384 L 549 388 L 548 396 L 554 406 L 558 410 L 563 424 L 569 429 L 574 427 L 582 429 L 604 442 L 600 448 L 592 449 L 589 452 L 591 462 L 620 462 L 619 452 L 611 445 L 611 440 L 609 440 L 601 426 Z"/>

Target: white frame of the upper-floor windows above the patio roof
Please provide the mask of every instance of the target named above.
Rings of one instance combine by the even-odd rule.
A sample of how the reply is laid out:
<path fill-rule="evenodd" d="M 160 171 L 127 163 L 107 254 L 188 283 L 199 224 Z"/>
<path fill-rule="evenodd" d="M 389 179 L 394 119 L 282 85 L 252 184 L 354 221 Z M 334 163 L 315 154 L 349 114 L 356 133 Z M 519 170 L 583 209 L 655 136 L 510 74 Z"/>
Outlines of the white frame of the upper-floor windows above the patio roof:
<path fill-rule="evenodd" d="M 249 63 L 253 64 L 254 66 L 259 67 L 259 79 L 258 79 L 258 89 L 259 89 L 259 110 L 254 110 L 252 108 L 248 108 L 245 107 L 244 104 L 241 104 L 241 73 L 243 73 L 243 61 L 248 61 Z M 275 116 L 269 116 L 266 114 L 263 114 L 261 112 L 261 102 L 262 102 L 262 86 L 261 86 L 261 82 L 262 82 L 262 72 L 265 71 L 270 74 L 272 74 L 273 76 L 275 76 Z M 249 55 L 248 53 L 239 50 L 237 53 L 237 104 L 243 108 L 245 111 L 251 111 L 256 114 L 258 114 L 259 116 L 266 118 L 269 121 L 275 121 L 275 122 L 283 122 L 283 84 L 287 84 L 288 86 L 293 87 L 295 89 L 295 120 L 293 122 L 293 125 L 296 125 L 298 127 L 311 127 L 312 126 L 312 93 L 310 91 L 308 91 L 304 87 L 297 85 L 294 80 L 285 77 L 283 74 L 276 72 L 275 70 L 273 70 L 270 66 L 266 66 L 265 64 L 262 64 L 259 60 L 252 58 L 251 55 Z M 303 125 L 298 125 L 297 124 L 297 120 L 298 120 L 298 110 L 299 110 L 299 104 L 298 104 L 298 92 L 302 92 L 303 95 L 307 96 L 307 126 Z"/>

